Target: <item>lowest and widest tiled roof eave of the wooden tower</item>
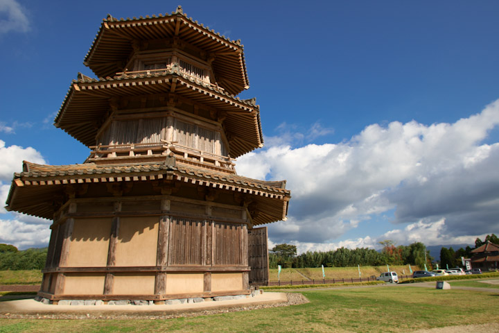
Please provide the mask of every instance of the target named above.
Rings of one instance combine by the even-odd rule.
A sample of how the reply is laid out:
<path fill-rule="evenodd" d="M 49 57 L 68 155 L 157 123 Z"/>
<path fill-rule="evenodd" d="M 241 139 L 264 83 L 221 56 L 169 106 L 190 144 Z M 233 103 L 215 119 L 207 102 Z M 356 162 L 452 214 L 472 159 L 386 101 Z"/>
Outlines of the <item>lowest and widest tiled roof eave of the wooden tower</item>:
<path fill-rule="evenodd" d="M 286 219 L 290 191 L 285 182 L 265 182 L 186 166 L 167 167 L 162 164 L 98 167 L 93 163 L 67 166 L 28 164 L 30 171 L 17 173 L 10 188 L 7 209 L 53 219 L 58 198 L 68 186 L 98 182 L 147 182 L 160 180 L 168 174 L 174 181 L 209 187 L 218 191 L 237 191 L 252 200 L 254 225 Z"/>

